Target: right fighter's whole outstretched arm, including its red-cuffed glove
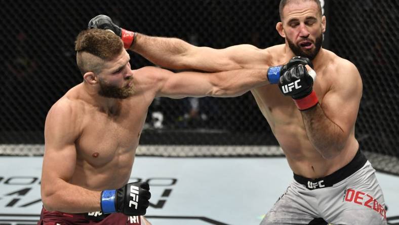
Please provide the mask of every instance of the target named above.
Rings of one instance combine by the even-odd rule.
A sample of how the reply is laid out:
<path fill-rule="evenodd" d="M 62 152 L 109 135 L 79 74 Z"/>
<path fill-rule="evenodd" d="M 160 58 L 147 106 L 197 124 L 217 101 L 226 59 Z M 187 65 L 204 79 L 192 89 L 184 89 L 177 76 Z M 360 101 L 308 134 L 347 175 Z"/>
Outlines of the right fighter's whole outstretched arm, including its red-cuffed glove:
<path fill-rule="evenodd" d="M 120 28 L 105 15 L 89 22 L 89 28 L 110 29 L 121 36 L 125 48 L 133 50 L 151 62 L 166 68 L 224 71 L 240 68 L 261 68 L 269 65 L 271 54 L 252 45 L 237 45 L 225 49 L 196 47 L 171 37 L 147 36 Z M 133 37 L 133 38 L 132 38 Z"/>

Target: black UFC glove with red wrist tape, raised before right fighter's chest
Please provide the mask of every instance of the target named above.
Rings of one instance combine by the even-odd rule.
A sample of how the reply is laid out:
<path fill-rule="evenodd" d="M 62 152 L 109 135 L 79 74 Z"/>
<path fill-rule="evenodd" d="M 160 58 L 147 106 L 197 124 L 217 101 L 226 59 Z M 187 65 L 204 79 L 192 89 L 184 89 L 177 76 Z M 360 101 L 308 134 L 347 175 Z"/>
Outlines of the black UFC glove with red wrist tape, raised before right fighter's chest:
<path fill-rule="evenodd" d="M 280 77 L 278 88 L 285 96 L 291 96 L 300 110 L 309 109 L 318 103 L 316 93 L 313 91 L 313 81 L 316 72 L 309 72 L 302 64 L 288 68 Z"/>

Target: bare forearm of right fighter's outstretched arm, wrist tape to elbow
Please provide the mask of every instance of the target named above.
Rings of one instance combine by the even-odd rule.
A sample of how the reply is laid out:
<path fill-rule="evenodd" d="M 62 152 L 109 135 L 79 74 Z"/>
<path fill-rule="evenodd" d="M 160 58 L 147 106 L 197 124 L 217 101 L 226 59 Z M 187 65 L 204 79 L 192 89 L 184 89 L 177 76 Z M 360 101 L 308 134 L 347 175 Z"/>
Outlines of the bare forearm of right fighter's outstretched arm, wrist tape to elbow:
<path fill-rule="evenodd" d="M 191 48 L 195 48 L 195 46 L 177 38 L 137 33 L 130 50 L 137 52 L 156 65 L 172 69 L 185 69 L 189 65 L 185 63 L 184 57 Z"/>

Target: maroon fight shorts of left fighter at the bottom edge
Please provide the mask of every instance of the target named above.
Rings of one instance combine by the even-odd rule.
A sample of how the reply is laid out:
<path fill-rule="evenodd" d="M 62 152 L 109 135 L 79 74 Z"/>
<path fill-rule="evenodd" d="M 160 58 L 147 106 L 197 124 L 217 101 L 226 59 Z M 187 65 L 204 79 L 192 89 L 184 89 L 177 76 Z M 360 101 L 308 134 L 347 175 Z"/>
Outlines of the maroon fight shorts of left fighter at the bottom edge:
<path fill-rule="evenodd" d="M 47 211 L 44 207 L 37 225 L 71 225 L 71 224 L 112 224 L 112 225 L 145 225 L 142 216 L 127 216 L 122 213 L 102 214 L 102 212 L 64 213 Z"/>

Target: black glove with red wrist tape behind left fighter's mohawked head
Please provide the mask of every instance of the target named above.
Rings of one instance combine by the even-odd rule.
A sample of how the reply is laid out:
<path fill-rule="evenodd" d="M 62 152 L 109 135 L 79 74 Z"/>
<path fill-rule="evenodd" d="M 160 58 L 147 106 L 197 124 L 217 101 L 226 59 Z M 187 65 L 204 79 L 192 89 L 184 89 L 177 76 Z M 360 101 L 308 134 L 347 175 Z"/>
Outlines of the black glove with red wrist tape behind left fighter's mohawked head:
<path fill-rule="evenodd" d="M 92 18 L 89 22 L 88 28 L 98 28 L 103 30 L 111 30 L 116 35 L 121 37 L 125 49 L 130 49 L 132 46 L 134 39 L 136 37 L 136 33 L 133 31 L 125 30 L 121 27 L 116 26 L 109 16 L 98 15 Z"/>

